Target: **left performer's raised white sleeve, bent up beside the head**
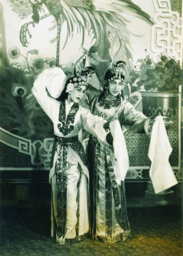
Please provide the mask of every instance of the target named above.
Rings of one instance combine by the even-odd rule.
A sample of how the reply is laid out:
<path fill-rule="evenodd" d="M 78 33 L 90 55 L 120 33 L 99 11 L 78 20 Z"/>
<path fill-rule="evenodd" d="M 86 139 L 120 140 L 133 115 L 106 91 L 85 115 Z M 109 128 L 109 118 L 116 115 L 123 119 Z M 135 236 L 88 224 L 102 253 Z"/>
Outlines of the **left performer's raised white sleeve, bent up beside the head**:
<path fill-rule="evenodd" d="M 58 67 L 45 69 L 34 82 L 32 92 L 51 120 L 60 104 L 59 101 L 54 98 L 57 98 L 61 94 L 65 82 L 66 76 Z M 48 96 L 46 89 L 54 98 Z"/>

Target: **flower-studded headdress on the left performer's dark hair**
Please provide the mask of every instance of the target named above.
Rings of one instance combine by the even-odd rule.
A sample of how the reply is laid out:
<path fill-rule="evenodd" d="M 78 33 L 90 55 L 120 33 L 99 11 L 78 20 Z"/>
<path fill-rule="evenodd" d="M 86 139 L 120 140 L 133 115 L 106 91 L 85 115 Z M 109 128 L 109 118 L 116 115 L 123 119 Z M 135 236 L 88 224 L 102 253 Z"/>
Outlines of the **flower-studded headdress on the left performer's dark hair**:
<path fill-rule="evenodd" d="M 91 76 L 95 73 L 95 69 L 93 67 L 85 67 L 81 69 L 79 72 L 74 73 L 67 81 L 67 89 L 66 92 L 72 91 L 74 88 L 78 86 L 87 86 Z"/>

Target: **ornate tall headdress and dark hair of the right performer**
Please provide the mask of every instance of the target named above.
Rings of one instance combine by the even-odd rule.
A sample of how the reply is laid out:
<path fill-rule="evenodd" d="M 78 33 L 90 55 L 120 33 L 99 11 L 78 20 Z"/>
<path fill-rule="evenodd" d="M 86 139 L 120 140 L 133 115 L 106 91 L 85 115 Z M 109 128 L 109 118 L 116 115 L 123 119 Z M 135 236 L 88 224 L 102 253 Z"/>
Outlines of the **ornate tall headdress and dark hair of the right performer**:
<path fill-rule="evenodd" d="M 108 84 L 113 79 L 120 79 L 124 81 L 124 69 L 126 67 L 125 61 L 115 61 L 112 63 L 111 69 L 105 74 L 105 82 Z"/>

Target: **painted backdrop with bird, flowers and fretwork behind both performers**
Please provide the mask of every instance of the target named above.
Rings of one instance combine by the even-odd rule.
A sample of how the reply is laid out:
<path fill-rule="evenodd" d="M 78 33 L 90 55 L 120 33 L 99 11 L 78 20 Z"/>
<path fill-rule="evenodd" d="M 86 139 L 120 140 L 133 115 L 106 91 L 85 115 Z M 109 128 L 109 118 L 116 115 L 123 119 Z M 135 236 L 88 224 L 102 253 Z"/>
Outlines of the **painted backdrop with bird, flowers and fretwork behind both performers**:
<path fill-rule="evenodd" d="M 70 76 L 87 61 L 96 68 L 94 86 L 101 89 L 110 63 L 122 59 L 127 62 L 125 97 L 142 110 L 140 94 L 132 93 L 128 83 L 138 60 L 149 56 L 156 62 L 163 54 L 182 62 L 181 0 L 127 2 L 0 1 L 2 171 L 49 169 L 52 122 L 31 93 L 45 68 L 60 66 Z M 179 116 L 177 106 L 168 135 L 170 162 L 181 180 Z M 149 139 L 124 132 L 130 158 L 127 179 L 148 179 Z"/>

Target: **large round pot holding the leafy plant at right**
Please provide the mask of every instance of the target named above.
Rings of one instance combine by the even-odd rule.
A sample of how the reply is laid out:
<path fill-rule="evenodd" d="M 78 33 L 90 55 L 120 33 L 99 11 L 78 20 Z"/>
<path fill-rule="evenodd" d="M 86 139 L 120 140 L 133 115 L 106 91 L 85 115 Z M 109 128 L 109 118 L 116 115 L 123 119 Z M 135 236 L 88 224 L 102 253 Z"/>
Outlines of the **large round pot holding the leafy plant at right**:
<path fill-rule="evenodd" d="M 147 116 L 161 115 L 164 121 L 171 120 L 178 106 L 178 92 L 141 92 L 142 109 Z"/>

